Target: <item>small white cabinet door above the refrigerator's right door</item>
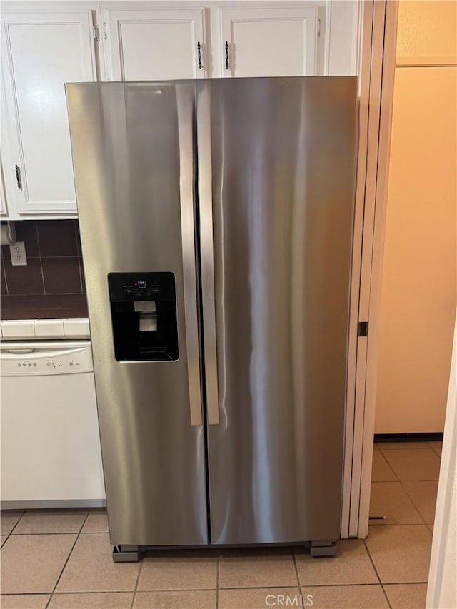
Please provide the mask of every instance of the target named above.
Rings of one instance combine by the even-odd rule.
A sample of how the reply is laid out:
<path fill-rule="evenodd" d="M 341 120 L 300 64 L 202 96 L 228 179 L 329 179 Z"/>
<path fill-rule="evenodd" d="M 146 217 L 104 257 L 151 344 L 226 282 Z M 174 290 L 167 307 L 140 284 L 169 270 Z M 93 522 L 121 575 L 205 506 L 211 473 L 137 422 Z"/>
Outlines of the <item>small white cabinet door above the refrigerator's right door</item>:
<path fill-rule="evenodd" d="M 316 74 L 317 9 L 221 9 L 224 76 Z"/>

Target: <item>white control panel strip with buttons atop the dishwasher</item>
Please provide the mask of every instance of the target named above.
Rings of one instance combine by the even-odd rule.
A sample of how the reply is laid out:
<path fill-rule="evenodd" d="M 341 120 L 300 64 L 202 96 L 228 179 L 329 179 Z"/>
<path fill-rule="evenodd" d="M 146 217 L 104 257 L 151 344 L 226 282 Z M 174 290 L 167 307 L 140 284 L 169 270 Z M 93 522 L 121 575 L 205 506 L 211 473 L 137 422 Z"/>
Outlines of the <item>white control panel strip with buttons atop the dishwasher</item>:
<path fill-rule="evenodd" d="M 57 348 L 59 347 L 59 348 Z M 93 371 L 91 349 L 84 346 L 1 345 L 1 376 L 42 376 Z"/>

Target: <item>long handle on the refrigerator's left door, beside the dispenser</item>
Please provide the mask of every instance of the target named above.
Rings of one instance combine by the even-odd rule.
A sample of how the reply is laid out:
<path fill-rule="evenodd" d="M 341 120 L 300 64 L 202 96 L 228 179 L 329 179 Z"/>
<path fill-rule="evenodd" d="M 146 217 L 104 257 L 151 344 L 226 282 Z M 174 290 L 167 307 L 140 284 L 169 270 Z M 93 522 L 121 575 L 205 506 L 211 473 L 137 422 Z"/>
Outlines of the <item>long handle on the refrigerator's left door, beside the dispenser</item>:
<path fill-rule="evenodd" d="M 191 425 L 202 425 L 199 318 L 194 230 L 194 94 L 176 85 L 179 130 L 179 191 L 183 253 L 184 316 L 186 318 L 187 374 Z"/>

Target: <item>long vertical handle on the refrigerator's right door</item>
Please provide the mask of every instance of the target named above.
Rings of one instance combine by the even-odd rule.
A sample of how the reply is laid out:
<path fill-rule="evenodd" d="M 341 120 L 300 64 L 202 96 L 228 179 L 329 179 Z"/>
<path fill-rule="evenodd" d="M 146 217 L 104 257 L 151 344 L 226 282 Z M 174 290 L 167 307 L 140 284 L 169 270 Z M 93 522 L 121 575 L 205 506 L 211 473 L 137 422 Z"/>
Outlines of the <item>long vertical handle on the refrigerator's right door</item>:
<path fill-rule="evenodd" d="M 209 425 L 219 425 L 216 308 L 214 301 L 213 189 L 211 175 L 211 105 L 209 86 L 199 87 L 197 100 L 201 292 L 204 317 L 206 408 Z"/>

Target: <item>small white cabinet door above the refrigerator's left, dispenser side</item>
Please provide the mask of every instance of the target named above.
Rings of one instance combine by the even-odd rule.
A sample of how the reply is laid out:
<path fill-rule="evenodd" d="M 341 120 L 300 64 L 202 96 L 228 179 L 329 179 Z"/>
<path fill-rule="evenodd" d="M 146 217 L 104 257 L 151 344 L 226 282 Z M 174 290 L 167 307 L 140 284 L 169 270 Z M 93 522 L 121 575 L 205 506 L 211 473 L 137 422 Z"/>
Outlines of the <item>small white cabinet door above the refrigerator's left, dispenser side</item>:
<path fill-rule="evenodd" d="M 109 79 L 141 81 L 206 76 L 204 9 L 120 10 L 119 5 L 111 6 L 102 4 L 104 58 Z"/>

